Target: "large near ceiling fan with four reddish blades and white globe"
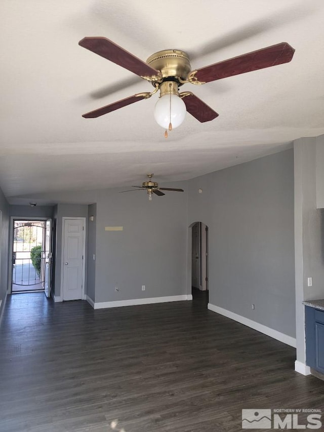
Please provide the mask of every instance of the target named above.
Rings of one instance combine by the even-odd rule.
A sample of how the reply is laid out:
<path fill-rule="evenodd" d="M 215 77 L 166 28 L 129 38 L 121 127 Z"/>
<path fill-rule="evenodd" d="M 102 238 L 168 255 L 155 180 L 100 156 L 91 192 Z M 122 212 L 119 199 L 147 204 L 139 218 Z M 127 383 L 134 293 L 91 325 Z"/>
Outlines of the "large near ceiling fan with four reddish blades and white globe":
<path fill-rule="evenodd" d="M 228 76 L 288 63 L 295 52 L 288 43 L 282 42 L 192 70 L 189 56 L 179 50 L 159 51 L 144 62 L 106 37 L 84 37 L 79 45 L 130 70 L 154 86 L 152 92 L 137 93 L 87 112 L 83 117 L 99 117 L 142 99 L 148 99 L 159 90 L 160 96 L 155 104 L 154 117 L 156 122 L 166 129 L 166 138 L 167 129 L 171 131 L 180 126 L 185 119 L 186 111 L 201 123 L 214 120 L 218 116 L 216 111 L 193 93 L 179 93 L 180 86 L 186 83 L 206 84 Z"/>

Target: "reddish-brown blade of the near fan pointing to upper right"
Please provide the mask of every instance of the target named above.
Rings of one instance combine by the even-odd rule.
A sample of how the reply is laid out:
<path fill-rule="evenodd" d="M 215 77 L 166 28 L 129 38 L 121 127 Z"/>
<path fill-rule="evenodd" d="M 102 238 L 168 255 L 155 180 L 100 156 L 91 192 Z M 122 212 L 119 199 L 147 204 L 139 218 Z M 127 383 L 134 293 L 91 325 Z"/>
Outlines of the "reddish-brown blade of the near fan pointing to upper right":
<path fill-rule="evenodd" d="M 205 66 L 197 69 L 193 74 L 200 83 L 209 83 L 226 78 L 227 76 L 239 75 L 240 73 L 251 72 L 252 70 L 288 63 L 293 58 L 294 52 L 294 48 L 286 42 L 282 42 L 281 44 L 272 45 L 271 47 L 253 51 L 252 53 Z"/>

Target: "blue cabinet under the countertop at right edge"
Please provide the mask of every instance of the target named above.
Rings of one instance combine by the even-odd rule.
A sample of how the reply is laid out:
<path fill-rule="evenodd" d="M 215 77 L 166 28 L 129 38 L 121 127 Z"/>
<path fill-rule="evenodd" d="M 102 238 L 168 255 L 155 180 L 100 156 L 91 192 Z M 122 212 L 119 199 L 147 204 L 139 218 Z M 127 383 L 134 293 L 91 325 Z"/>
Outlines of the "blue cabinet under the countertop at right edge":
<path fill-rule="evenodd" d="M 306 365 L 324 373 L 324 310 L 305 306 Z"/>

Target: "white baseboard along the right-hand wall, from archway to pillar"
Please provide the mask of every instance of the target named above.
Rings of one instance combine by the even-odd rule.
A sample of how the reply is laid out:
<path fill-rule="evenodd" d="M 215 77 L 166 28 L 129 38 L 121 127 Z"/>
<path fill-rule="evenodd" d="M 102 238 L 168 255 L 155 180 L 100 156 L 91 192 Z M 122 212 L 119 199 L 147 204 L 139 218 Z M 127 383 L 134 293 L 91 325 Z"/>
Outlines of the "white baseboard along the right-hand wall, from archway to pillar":
<path fill-rule="evenodd" d="M 215 306 L 214 304 L 208 303 L 208 309 L 213 312 L 220 313 L 224 317 L 230 318 L 231 320 L 237 321 L 238 323 L 244 324 L 245 326 L 251 327 L 260 333 L 266 334 L 267 336 L 273 337 L 280 342 L 284 342 L 287 345 L 296 348 L 296 339 L 288 336 L 285 333 L 280 333 L 277 330 L 273 330 L 270 327 L 264 326 L 263 324 L 257 323 L 256 321 L 249 320 L 249 318 L 237 315 L 237 313 L 231 312 L 230 310 L 223 309 L 222 307 Z"/>

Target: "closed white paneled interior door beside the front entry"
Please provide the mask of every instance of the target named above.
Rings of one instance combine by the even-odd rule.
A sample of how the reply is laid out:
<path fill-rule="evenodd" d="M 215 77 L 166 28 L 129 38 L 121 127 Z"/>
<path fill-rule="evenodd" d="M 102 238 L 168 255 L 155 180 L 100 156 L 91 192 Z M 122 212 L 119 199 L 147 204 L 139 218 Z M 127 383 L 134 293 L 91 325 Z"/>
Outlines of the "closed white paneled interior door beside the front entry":
<path fill-rule="evenodd" d="M 63 300 L 83 298 L 84 219 L 64 220 Z"/>

